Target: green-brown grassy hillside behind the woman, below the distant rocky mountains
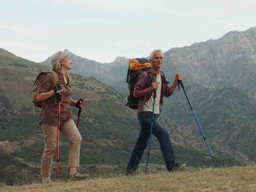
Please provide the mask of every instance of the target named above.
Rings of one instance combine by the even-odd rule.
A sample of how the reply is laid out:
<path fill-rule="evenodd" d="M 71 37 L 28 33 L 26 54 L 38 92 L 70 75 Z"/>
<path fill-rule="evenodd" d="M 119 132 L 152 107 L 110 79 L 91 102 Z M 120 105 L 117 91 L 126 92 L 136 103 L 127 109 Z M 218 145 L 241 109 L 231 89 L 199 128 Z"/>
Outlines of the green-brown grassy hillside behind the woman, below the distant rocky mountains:
<path fill-rule="evenodd" d="M 37 74 L 46 70 L 49 70 L 47 66 L 0 50 L 0 182 L 8 185 L 39 180 L 44 142 L 38 124 L 40 109 L 33 107 L 30 95 Z M 80 172 L 92 176 L 104 172 L 124 172 L 140 131 L 136 112 L 124 105 L 121 93 L 93 78 L 72 74 L 72 86 L 73 99 L 105 99 L 88 101 L 82 110 L 79 122 L 83 137 Z M 76 121 L 76 108 L 72 108 L 72 114 Z M 173 131 L 171 137 L 184 141 L 184 135 L 184 132 Z M 187 142 L 194 146 L 194 140 L 187 139 Z M 164 164 L 155 138 L 152 144 L 150 162 Z M 179 140 L 175 141 L 173 148 L 179 162 L 195 167 L 212 165 L 205 149 L 188 148 Z M 145 156 L 146 152 L 142 162 L 145 162 Z M 216 154 L 216 159 L 218 164 L 242 163 L 229 154 Z M 62 135 L 60 162 L 59 179 L 64 179 L 68 165 L 68 140 Z M 56 178 L 55 172 L 54 164 L 52 178 Z"/>

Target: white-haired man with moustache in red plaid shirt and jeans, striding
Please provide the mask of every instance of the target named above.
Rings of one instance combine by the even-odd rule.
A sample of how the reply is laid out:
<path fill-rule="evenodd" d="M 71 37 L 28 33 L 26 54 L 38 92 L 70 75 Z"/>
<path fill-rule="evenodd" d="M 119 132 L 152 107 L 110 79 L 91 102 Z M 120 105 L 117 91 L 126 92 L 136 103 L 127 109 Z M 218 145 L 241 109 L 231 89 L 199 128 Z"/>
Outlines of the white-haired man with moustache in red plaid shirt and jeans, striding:
<path fill-rule="evenodd" d="M 180 74 L 176 74 L 172 86 L 168 86 L 165 77 L 161 75 L 161 67 L 164 61 L 164 54 L 161 50 L 155 50 L 150 54 L 151 68 L 153 75 L 153 83 L 145 88 L 148 72 L 144 71 L 140 74 L 137 84 L 134 86 L 133 97 L 139 98 L 138 120 L 141 131 L 137 143 L 132 151 L 132 156 L 127 166 L 126 175 L 132 175 L 138 168 L 140 159 L 144 150 L 148 146 L 150 136 L 151 121 L 153 115 L 153 91 L 156 90 L 156 101 L 154 111 L 154 124 L 152 133 L 156 136 L 160 143 L 161 151 L 164 156 L 166 169 L 170 172 L 185 169 L 186 164 L 175 163 L 172 143 L 169 134 L 164 127 L 156 122 L 160 113 L 160 106 L 163 104 L 163 97 L 170 97 L 178 85 L 178 80 L 182 80 Z"/>

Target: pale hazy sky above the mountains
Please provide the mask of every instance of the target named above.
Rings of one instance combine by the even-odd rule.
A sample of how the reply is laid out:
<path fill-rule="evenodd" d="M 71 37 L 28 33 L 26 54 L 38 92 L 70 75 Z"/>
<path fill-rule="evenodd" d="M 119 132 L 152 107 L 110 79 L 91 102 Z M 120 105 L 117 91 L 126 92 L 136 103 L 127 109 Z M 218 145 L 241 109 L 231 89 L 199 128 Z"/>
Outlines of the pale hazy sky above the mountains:
<path fill-rule="evenodd" d="M 256 26 L 255 0 L 1 0 L 0 48 L 41 62 L 146 57 Z"/>

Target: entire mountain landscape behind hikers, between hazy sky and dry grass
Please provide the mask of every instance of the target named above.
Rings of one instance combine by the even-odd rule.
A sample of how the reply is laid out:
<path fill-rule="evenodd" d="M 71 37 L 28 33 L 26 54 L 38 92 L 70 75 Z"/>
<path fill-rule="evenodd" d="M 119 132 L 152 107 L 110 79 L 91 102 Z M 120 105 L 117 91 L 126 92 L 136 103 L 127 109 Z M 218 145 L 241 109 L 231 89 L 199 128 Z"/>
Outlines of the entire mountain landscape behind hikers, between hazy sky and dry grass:
<path fill-rule="evenodd" d="M 182 74 L 185 91 L 219 165 L 256 161 L 255 49 L 256 28 L 250 28 L 164 52 L 162 70 L 171 83 L 176 73 Z M 105 170 L 102 167 L 122 171 L 139 134 L 136 111 L 125 106 L 129 58 L 99 63 L 71 52 L 70 58 L 74 99 L 106 99 L 88 102 L 83 110 L 81 172 L 100 174 Z M 50 64 L 51 57 L 38 64 L 0 49 L 0 182 L 39 180 L 36 175 L 44 144 L 38 125 L 40 109 L 33 107 L 30 93 L 36 75 L 50 70 Z M 76 120 L 76 109 L 72 113 Z M 182 89 L 164 100 L 159 122 L 170 133 L 177 161 L 212 165 Z M 64 177 L 68 141 L 64 137 L 61 141 Z M 157 140 L 152 143 L 150 161 L 163 164 Z"/>

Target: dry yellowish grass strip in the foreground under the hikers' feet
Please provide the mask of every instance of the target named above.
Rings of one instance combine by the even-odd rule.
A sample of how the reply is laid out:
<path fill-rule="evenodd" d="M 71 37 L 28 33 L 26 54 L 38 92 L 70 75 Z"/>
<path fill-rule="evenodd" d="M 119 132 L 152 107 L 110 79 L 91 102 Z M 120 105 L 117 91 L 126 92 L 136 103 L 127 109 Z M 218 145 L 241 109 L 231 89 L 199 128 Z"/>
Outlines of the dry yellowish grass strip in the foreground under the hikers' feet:
<path fill-rule="evenodd" d="M 104 179 L 77 182 L 54 182 L 20 187 L 3 187 L 0 191 L 53 192 L 53 191 L 182 191 L 182 192 L 235 192 L 256 191 L 256 166 L 189 170 L 138 174 L 133 177 L 119 175 Z"/>

